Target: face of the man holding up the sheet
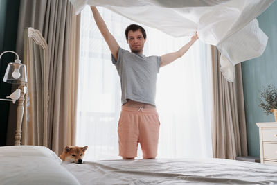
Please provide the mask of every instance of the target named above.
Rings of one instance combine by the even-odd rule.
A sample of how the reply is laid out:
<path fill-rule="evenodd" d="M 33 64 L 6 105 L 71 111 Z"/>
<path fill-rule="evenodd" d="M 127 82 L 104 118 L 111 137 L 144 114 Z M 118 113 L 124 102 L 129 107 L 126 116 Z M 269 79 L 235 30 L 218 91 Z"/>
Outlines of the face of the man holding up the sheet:
<path fill-rule="evenodd" d="M 142 54 L 145 41 L 146 39 L 143 38 L 143 33 L 141 33 L 141 30 L 129 30 L 127 43 L 129 44 L 129 47 L 133 53 Z"/>

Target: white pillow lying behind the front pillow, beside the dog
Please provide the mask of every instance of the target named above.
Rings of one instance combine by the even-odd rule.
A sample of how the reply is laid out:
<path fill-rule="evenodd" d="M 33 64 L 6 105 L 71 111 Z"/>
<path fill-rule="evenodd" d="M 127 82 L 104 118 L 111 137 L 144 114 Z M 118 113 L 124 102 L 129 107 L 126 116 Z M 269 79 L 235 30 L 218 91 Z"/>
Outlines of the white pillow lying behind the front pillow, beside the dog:
<path fill-rule="evenodd" d="M 55 152 L 46 148 L 45 146 L 1 146 L 0 157 L 19 157 L 19 156 L 33 156 L 33 157 L 47 157 L 62 163 L 60 157 L 57 157 Z"/>

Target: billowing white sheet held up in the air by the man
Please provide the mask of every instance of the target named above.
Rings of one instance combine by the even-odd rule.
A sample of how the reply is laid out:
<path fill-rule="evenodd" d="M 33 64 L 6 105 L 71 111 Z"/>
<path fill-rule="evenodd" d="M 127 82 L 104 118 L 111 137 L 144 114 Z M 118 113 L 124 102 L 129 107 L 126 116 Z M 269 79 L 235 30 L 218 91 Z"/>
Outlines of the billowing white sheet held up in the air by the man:
<path fill-rule="evenodd" d="M 194 35 L 197 30 L 202 42 L 217 46 L 224 55 L 222 73 L 233 81 L 235 64 L 256 58 L 265 50 L 267 35 L 258 27 L 256 17 L 274 0 L 69 1 L 77 14 L 86 4 L 103 6 L 174 37 Z"/>

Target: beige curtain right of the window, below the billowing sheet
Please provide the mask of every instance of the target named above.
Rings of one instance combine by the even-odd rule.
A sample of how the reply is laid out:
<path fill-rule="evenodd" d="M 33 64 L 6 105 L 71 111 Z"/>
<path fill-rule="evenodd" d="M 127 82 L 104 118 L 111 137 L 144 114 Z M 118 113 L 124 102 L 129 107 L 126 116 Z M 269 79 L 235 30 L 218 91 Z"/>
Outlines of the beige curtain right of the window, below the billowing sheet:
<path fill-rule="evenodd" d="M 235 66 L 235 82 L 227 82 L 220 72 L 220 53 L 215 46 L 211 46 L 211 53 L 213 157 L 247 156 L 241 66 Z"/>

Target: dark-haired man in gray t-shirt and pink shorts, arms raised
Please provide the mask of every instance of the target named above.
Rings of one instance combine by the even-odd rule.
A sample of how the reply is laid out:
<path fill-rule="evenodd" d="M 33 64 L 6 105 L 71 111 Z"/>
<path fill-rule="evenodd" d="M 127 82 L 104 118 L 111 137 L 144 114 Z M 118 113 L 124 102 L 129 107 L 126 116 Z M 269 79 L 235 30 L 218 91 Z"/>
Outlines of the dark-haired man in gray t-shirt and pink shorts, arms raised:
<path fill-rule="evenodd" d="M 198 35 L 196 33 L 191 37 L 190 42 L 179 51 L 145 57 L 143 46 L 146 33 L 141 26 L 131 24 L 125 30 L 127 43 L 132 51 L 129 52 L 120 48 L 96 7 L 91 6 L 91 10 L 120 76 L 122 110 L 118 121 L 119 155 L 123 159 L 134 159 L 140 143 L 143 159 L 154 159 L 157 156 L 160 125 L 154 103 L 157 73 L 160 67 L 183 56 L 198 39 Z"/>

